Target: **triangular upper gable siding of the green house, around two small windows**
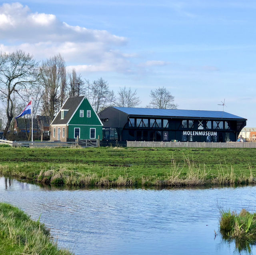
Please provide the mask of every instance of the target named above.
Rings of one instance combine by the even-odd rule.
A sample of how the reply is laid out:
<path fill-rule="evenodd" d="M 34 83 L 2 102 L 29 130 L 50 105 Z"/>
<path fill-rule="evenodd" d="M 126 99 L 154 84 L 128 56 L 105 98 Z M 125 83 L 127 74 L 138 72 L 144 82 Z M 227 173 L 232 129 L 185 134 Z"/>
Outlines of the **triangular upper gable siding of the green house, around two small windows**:
<path fill-rule="evenodd" d="M 84 117 L 80 117 L 80 110 L 84 110 Z M 91 117 L 87 117 L 87 110 L 91 111 Z M 88 99 L 84 99 L 80 107 L 78 107 L 76 113 L 68 123 L 69 125 L 101 125 L 98 116 L 92 109 Z M 90 130 L 90 129 L 89 129 Z M 74 132 L 74 130 L 73 130 Z M 73 136 L 74 137 L 74 136 Z M 72 138 L 69 136 L 69 138 Z M 81 138 L 82 139 L 82 138 Z"/>

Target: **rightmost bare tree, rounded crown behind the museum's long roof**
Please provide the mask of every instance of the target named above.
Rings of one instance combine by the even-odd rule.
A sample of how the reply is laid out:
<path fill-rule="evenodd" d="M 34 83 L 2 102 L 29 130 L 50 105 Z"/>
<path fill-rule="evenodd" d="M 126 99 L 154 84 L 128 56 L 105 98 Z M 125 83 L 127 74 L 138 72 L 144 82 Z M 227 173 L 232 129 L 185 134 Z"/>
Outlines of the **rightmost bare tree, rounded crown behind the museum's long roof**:
<path fill-rule="evenodd" d="M 177 109 L 178 107 L 178 105 L 174 104 L 174 96 L 165 87 L 151 90 L 150 97 L 150 105 L 147 107 L 159 109 Z"/>

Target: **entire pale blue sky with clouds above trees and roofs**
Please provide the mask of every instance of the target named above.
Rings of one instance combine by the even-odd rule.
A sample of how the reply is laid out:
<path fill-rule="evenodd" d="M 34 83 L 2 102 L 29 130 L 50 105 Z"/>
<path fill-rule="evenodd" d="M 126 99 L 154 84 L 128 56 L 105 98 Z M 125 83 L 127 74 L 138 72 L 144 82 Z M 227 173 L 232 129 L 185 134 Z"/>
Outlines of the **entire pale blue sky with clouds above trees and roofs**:
<path fill-rule="evenodd" d="M 219 110 L 256 127 L 256 2 L 228 0 L 0 1 L 0 51 L 69 69 L 149 101 L 166 87 L 179 109 Z"/>

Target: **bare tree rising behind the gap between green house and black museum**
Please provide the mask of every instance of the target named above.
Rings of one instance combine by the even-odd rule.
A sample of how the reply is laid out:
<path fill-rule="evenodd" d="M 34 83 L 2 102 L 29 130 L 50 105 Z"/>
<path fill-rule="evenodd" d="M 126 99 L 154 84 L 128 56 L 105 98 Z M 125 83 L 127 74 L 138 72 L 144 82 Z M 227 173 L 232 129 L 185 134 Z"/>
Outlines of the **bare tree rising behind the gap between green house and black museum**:
<path fill-rule="evenodd" d="M 110 91 L 107 81 L 100 77 L 97 81 L 93 81 L 92 84 L 88 80 L 86 82 L 89 91 L 89 99 L 96 113 L 108 106 L 114 105 L 114 91 Z"/>

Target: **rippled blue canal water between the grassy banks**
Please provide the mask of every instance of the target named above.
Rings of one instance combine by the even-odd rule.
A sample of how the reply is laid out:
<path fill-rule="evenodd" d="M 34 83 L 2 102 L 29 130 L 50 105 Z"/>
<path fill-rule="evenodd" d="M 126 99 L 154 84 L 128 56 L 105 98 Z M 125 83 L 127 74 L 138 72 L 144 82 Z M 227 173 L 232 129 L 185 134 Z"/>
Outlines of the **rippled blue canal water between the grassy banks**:
<path fill-rule="evenodd" d="M 0 178 L 0 202 L 41 215 L 58 245 L 76 255 L 256 254 L 218 233 L 219 208 L 254 211 L 256 186 L 68 190 Z"/>

